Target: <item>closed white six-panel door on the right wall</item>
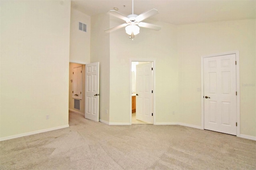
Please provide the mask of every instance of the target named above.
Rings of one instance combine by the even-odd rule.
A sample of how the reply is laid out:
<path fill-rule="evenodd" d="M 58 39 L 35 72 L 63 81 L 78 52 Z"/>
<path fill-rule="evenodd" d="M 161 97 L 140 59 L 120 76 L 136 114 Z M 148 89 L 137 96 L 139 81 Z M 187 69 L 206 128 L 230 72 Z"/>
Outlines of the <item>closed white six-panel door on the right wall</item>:
<path fill-rule="evenodd" d="M 236 135 L 236 55 L 204 58 L 204 129 Z"/>

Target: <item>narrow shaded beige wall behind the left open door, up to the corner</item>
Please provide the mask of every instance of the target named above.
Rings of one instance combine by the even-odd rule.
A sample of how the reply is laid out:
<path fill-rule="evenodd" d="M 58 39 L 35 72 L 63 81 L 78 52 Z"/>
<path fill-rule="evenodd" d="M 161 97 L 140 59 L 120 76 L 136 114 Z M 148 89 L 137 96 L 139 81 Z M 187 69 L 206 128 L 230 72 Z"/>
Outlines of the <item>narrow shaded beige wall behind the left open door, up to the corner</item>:
<path fill-rule="evenodd" d="M 92 16 L 91 21 L 90 62 L 100 62 L 99 119 L 108 122 L 110 113 L 110 42 L 109 34 L 105 33 L 104 30 L 110 26 L 109 16 L 107 14 Z"/>

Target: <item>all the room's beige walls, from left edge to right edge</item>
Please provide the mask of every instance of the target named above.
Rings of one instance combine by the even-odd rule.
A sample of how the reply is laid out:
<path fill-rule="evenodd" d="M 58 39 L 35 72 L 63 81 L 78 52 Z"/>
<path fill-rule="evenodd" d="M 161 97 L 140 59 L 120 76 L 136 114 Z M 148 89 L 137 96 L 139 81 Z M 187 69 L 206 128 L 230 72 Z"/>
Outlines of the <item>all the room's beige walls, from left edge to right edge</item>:
<path fill-rule="evenodd" d="M 200 126 L 201 56 L 236 50 L 241 134 L 256 136 L 255 20 L 182 26 L 148 20 L 162 30 L 141 28 L 132 41 L 124 29 L 105 33 L 104 29 L 121 23 L 100 14 L 91 17 L 90 35 L 87 32 L 80 39 L 84 32 L 76 29 L 77 19 L 89 23 L 90 18 L 72 9 L 70 21 L 70 1 L 0 1 L 0 8 L 1 138 L 68 125 L 70 60 L 100 62 L 101 120 L 129 123 L 130 59 L 153 59 L 156 122 Z M 85 39 L 85 49 L 76 46 L 76 40 Z"/>

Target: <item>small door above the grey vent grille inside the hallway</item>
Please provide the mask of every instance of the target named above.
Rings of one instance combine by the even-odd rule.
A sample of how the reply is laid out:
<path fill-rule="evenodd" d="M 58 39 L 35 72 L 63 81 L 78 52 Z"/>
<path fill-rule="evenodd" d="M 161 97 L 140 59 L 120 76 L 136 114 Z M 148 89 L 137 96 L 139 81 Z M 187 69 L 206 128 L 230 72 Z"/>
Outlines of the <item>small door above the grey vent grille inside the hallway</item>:
<path fill-rule="evenodd" d="M 82 99 L 82 67 L 73 68 L 72 97 Z"/>

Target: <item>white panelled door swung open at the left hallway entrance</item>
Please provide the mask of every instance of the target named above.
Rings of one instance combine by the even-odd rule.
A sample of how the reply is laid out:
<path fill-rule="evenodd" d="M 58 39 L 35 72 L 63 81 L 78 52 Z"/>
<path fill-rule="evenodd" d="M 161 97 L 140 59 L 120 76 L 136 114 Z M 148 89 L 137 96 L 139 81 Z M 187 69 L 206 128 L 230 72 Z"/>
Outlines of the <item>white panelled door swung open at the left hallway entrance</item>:
<path fill-rule="evenodd" d="M 86 119 L 99 121 L 99 62 L 85 65 Z"/>

